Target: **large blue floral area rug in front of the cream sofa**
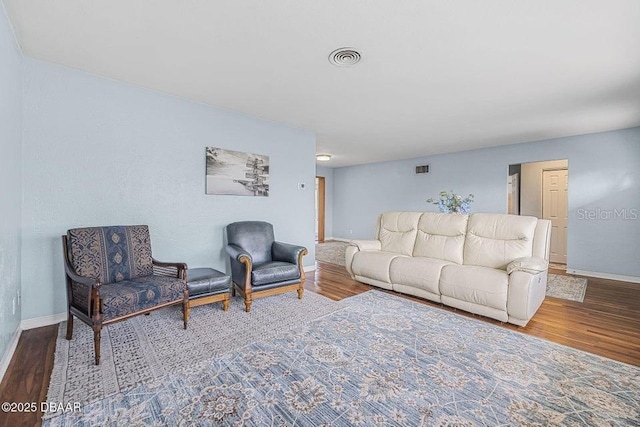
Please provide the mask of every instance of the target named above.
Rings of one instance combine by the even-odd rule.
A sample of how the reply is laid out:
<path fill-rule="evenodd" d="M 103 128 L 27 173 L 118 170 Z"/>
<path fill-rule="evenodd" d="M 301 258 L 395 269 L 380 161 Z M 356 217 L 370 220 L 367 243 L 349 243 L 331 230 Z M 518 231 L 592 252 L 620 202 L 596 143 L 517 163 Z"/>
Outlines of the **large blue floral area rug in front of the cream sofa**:
<path fill-rule="evenodd" d="M 380 291 L 44 425 L 637 426 L 640 368 Z"/>

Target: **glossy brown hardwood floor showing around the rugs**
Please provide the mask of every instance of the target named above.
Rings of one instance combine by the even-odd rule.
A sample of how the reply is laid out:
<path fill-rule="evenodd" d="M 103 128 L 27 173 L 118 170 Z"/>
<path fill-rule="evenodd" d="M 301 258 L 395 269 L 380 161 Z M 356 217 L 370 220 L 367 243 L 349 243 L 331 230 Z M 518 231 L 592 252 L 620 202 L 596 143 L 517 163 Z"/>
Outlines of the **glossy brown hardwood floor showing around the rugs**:
<path fill-rule="evenodd" d="M 552 273 L 565 274 L 560 270 Z M 480 319 L 570 347 L 640 366 L 640 284 L 588 278 L 583 303 L 546 298 L 526 327 L 472 315 L 419 298 L 395 295 L 439 309 Z M 305 288 L 340 300 L 378 289 L 352 280 L 344 267 L 318 262 L 307 275 Z M 13 359 L 0 384 L 0 402 L 35 402 L 40 409 L 47 395 L 58 326 L 22 332 Z M 41 413 L 0 412 L 0 427 L 40 425 Z"/>

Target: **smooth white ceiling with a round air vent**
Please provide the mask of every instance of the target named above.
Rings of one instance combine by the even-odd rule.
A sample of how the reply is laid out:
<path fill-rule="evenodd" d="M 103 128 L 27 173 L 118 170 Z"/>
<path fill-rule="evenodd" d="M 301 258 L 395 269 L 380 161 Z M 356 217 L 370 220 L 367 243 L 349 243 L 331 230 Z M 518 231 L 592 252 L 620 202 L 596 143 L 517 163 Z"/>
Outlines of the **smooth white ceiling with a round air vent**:
<path fill-rule="evenodd" d="M 640 125 L 638 0 L 3 2 L 25 55 L 314 130 L 330 167 Z"/>

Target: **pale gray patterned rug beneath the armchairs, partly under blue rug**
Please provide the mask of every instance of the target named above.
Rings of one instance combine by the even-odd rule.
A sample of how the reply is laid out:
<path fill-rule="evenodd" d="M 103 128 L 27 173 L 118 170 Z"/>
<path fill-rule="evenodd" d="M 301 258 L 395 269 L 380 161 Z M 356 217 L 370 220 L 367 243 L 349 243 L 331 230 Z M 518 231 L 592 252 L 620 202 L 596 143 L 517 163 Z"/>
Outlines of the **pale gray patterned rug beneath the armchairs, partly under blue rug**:
<path fill-rule="evenodd" d="M 338 309 L 337 302 L 313 292 L 305 292 L 302 300 L 288 292 L 256 299 L 246 313 L 243 300 L 236 297 L 227 312 L 220 303 L 194 307 L 184 330 L 181 307 L 167 307 L 103 328 L 98 366 L 94 364 L 93 330 L 75 319 L 73 339 L 67 341 L 66 322 L 62 322 L 47 402 L 102 399 L 300 328 Z"/>

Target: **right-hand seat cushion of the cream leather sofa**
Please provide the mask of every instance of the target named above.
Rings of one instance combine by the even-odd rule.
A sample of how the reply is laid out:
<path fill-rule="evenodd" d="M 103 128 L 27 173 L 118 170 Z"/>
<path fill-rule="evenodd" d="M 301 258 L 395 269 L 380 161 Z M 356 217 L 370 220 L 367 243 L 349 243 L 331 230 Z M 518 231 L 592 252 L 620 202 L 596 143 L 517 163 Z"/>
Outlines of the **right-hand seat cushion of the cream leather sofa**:
<path fill-rule="evenodd" d="M 462 301 L 507 310 L 509 275 L 504 270 L 471 265 L 445 265 L 440 293 Z"/>

